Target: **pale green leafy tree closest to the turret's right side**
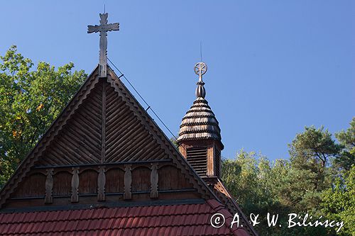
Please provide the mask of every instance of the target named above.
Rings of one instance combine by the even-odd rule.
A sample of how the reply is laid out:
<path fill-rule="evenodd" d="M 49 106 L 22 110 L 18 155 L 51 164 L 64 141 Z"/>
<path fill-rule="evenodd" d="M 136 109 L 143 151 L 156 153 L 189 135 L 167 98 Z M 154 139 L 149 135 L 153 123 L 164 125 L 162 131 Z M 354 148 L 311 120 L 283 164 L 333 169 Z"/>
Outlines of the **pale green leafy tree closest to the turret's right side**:
<path fill-rule="evenodd" d="M 262 154 L 241 150 L 235 159 L 222 161 L 222 181 L 236 202 L 249 217 L 250 213 L 260 214 L 262 220 L 256 225 L 259 235 L 272 235 L 273 227 L 267 226 L 268 212 L 279 213 L 280 205 L 275 202 L 271 185 L 273 169 L 270 161 Z"/>

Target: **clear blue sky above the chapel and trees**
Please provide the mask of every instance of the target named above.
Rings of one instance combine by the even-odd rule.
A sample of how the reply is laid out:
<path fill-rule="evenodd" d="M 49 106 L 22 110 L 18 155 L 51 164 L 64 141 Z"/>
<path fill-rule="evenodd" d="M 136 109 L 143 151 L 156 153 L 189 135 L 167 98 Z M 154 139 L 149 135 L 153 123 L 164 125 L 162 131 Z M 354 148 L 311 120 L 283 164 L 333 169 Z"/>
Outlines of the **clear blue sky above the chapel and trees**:
<path fill-rule="evenodd" d="M 35 63 L 74 62 L 90 73 L 99 35 L 87 25 L 99 23 L 104 4 L 109 22 L 120 23 L 108 57 L 173 133 L 195 99 L 202 41 L 223 157 L 244 148 L 288 158 L 288 143 L 306 125 L 334 133 L 355 116 L 351 0 L 3 1 L 0 55 L 17 45 Z"/>

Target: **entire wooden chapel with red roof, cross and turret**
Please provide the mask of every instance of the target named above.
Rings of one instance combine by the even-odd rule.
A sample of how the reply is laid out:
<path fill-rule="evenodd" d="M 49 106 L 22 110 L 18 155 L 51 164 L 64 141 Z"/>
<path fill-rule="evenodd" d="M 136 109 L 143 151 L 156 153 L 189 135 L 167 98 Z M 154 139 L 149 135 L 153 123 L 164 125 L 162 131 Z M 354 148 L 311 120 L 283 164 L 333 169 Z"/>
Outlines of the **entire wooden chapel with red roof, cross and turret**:
<path fill-rule="evenodd" d="M 107 32 L 119 30 L 107 17 L 88 27 L 99 64 L 0 191 L 0 235 L 257 235 L 221 181 L 207 65 L 195 65 L 177 148 L 107 64 Z"/>

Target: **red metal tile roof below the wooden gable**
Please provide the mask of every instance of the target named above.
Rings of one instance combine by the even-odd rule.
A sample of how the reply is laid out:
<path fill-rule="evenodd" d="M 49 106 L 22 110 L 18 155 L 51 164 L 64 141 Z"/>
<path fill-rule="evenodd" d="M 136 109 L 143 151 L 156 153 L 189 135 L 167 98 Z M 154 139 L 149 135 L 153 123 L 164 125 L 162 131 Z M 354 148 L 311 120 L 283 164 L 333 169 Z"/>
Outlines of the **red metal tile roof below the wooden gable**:
<path fill-rule="evenodd" d="M 226 225 L 209 220 L 223 213 Z M 216 200 L 202 204 L 0 213 L 0 235 L 249 235 L 230 229 L 231 214 Z"/>

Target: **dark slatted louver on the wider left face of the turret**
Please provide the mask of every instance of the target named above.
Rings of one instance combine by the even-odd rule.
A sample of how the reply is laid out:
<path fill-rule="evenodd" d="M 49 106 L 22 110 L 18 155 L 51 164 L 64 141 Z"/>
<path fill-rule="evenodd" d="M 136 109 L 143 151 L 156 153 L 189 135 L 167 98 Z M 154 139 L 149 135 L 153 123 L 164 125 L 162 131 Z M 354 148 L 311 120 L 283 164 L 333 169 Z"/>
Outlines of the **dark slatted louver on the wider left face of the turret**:
<path fill-rule="evenodd" d="M 207 147 L 187 148 L 187 162 L 200 176 L 207 176 Z"/>

